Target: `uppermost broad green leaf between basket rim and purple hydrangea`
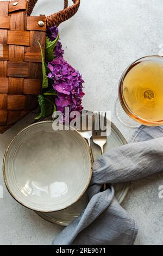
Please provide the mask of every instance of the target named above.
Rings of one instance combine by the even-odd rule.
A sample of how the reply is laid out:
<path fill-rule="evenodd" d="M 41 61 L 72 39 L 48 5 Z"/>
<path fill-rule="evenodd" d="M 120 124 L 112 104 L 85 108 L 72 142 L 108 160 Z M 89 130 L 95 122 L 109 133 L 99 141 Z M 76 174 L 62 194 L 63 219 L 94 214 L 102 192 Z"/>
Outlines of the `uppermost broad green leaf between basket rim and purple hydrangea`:
<path fill-rule="evenodd" d="M 45 46 L 45 58 L 47 62 L 52 62 L 55 59 L 54 56 L 54 48 L 59 40 L 59 33 L 57 38 L 54 41 L 50 41 L 49 38 L 46 36 L 46 46 Z"/>

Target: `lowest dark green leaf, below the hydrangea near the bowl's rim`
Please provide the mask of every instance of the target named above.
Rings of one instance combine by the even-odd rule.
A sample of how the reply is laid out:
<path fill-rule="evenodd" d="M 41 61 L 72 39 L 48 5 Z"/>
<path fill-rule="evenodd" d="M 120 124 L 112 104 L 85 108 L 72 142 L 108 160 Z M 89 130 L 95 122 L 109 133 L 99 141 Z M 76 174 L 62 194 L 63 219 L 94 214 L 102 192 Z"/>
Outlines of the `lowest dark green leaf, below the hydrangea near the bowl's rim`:
<path fill-rule="evenodd" d="M 42 117 L 47 117 L 48 115 L 52 114 L 53 111 L 53 102 L 46 99 L 46 97 L 43 97 L 43 95 L 39 95 L 39 105 L 41 112 L 37 117 L 35 117 L 35 120 L 39 120 Z"/>

